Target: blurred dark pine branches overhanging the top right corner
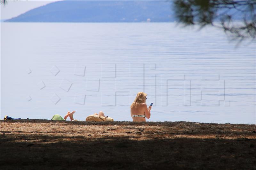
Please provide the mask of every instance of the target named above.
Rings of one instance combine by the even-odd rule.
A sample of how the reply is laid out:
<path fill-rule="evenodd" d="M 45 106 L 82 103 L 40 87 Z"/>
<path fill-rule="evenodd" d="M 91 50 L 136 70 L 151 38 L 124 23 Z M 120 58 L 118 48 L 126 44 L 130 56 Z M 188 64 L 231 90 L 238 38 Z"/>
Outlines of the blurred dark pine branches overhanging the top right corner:
<path fill-rule="evenodd" d="M 175 17 L 184 26 L 211 25 L 222 28 L 233 39 L 255 40 L 256 1 L 174 1 L 173 4 Z"/>

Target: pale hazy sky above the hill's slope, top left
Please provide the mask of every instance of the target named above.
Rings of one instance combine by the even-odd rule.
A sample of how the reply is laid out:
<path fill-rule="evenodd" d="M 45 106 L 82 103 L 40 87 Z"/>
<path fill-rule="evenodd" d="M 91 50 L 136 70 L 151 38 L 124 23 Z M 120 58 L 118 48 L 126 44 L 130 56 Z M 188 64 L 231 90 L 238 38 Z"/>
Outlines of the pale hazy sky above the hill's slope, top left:
<path fill-rule="evenodd" d="M 55 0 L 58 1 L 58 0 Z M 25 13 L 31 9 L 43 6 L 55 1 L 50 0 L 7 0 L 7 4 L 1 4 L 1 19 L 9 19 Z"/>

